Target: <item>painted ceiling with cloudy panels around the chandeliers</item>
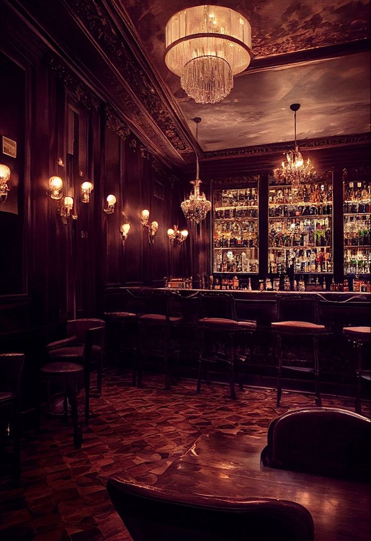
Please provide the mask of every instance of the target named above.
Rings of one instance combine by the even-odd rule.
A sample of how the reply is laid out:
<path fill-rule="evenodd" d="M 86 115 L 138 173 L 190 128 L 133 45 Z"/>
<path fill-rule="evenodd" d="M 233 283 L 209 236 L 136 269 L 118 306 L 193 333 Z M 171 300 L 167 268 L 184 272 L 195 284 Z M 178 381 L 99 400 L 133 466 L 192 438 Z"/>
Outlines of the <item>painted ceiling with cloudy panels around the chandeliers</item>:
<path fill-rule="evenodd" d="M 370 130 L 368 53 L 297 64 L 267 71 L 249 68 L 235 77 L 231 94 L 219 104 L 200 105 L 180 88 L 164 62 L 165 26 L 189 0 L 120 0 L 160 80 L 177 99 L 192 133 L 200 116 L 204 151 L 291 141 L 289 105 L 301 103 L 298 138 Z M 255 58 L 348 43 L 369 37 L 369 0 L 223 0 L 248 18 Z"/>

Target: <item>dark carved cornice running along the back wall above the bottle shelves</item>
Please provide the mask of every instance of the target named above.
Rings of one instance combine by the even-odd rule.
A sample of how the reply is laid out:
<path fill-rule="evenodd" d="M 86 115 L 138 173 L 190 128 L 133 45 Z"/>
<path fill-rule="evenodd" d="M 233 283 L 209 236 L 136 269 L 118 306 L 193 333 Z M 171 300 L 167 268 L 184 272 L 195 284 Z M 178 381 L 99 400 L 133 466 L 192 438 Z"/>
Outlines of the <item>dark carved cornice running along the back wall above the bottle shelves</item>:
<path fill-rule="evenodd" d="M 322 137 L 315 139 L 303 139 L 298 141 L 301 150 L 310 150 L 315 148 L 336 147 L 339 145 L 349 145 L 357 143 L 367 143 L 370 141 L 370 133 L 352 134 L 352 135 L 334 135 L 330 137 Z M 294 141 L 283 143 L 271 143 L 257 145 L 254 147 L 230 148 L 226 150 L 215 150 L 203 153 L 203 157 L 216 158 L 226 156 L 249 156 L 255 154 L 277 154 L 282 152 L 287 153 L 289 149 L 294 147 Z"/>

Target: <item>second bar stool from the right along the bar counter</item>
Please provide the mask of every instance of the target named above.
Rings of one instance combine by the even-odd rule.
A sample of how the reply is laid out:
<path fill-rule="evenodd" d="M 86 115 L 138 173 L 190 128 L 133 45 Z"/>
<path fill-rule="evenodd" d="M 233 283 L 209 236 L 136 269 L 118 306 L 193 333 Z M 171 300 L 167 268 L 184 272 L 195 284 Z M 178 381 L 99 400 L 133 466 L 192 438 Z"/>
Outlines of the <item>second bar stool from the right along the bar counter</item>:
<path fill-rule="evenodd" d="M 316 322 L 315 298 L 311 295 L 281 294 L 277 296 L 278 320 L 271 324 L 276 334 L 276 362 L 277 362 L 277 407 L 279 407 L 282 394 L 282 371 L 313 374 L 315 384 L 315 401 L 317 406 L 322 405 L 320 394 L 320 365 L 318 360 L 318 340 L 320 337 L 333 335 L 333 331 L 325 325 Z M 286 319 L 287 316 L 290 319 Z M 297 316 L 297 319 L 295 318 Z M 303 320 L 302 318 L 305 318 Z M 295 359 L 301 365 L 291 365 L 283 362 L 282 340 L 294 338 L 309 339 L 313 347 L 313 361 Z"/>

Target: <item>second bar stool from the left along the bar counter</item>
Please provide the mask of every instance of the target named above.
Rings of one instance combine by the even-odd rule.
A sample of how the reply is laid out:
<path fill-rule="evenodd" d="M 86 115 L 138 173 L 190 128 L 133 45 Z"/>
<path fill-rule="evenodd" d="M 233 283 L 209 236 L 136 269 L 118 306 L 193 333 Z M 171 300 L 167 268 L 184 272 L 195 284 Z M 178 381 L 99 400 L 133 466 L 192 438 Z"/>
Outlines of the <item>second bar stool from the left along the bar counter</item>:
<path fill-rule="evenodd" d="M 141 386 L 142 360 L 161 358 L 164 360 L 165 390 L 170 389 L 169 359 L 179 350 L 170 342 L 170 324 L 181 320 L 181 316 L 170 316 L 168 295 L 164 291 L 152 291 L 143 295 L 145 312 L 138 315 L 138 340 L 136 356 L 137 385 Z"/>

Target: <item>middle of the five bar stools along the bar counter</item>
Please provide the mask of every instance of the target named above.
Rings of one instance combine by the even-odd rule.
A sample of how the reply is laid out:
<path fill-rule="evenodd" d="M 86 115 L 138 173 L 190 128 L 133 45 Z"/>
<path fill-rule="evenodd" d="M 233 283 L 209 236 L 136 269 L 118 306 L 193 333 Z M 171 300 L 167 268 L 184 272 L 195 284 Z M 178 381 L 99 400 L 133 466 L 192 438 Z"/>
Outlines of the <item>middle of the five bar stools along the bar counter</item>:
<path fill-rule="evenodd" d="M 235 299 L 230 293 L 202 292 L 200 298 L 200 319 L 197 328 L 200 332 L 200 354 L 197 379 L 197 394 L 201 390 L 201 373 L 206 362 L 226 362 L 230 370 L 230 397 L 236 400 L 235 366 L 242 360 L 236 355 L 237 335 L 249 337 L 256 330 L 256 321 L 238 321 Z M 212 345 L 221 341 L 225 351 L 218 351 Z M 240 368 L 240 367 L 239 367 Z M 243 390 L 242 372 L 239 388 Z"/>

